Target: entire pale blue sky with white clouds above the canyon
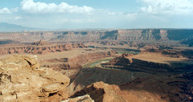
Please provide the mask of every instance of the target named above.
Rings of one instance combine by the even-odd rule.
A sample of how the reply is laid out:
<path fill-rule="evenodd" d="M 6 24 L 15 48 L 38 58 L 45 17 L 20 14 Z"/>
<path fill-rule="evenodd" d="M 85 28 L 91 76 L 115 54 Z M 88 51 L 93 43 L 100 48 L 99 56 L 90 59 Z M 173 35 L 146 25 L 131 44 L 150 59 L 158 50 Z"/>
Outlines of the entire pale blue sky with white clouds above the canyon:
<path fill-rule="evenodd" d="M 193 0 L 0 0 L 0 22 L 33 28 L 193 28 Z"/>

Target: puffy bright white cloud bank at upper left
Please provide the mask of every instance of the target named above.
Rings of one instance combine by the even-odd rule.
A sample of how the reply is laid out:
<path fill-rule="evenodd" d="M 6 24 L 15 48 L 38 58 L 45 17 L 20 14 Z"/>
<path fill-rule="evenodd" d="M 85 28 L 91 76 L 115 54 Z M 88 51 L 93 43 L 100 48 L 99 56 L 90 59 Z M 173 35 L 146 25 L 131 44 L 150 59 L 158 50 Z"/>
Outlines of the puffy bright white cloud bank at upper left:
<path fill-rule="evenodd" d="M 34 2 L 33 0 L 23 0 L 22 10 L 29 13 L 90 13 L 94 9 L 89 6 L 70 5 L 65 2 L 60 4 Z"/>

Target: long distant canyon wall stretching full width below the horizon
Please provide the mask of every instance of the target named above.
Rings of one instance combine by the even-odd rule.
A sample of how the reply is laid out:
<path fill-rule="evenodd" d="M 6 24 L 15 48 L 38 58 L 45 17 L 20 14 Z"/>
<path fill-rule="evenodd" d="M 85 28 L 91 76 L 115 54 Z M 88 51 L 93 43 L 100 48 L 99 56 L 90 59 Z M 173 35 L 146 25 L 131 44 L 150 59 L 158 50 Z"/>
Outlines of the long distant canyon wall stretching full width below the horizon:
<path fill-rule="evenodd" d="M 30 37 L 29 37 L 30 36 Z M 88 30 L 56 32 L 14 32 L 0 33 L 0 40 L 21 42 L 47 41 L 182 41 L 193 38 L 189 29 L 128 29 L 128 30 Z"/>

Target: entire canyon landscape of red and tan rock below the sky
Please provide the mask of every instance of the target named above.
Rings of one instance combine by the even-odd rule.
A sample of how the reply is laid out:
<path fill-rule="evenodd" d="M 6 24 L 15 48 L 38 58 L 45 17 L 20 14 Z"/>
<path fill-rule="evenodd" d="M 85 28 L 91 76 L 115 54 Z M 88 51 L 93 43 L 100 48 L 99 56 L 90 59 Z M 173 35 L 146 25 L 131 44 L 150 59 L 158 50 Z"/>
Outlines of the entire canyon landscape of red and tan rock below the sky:
<path fill-rule="evenodd" d="M 2 102 L 192 102 L 191 29 L 0 33 Z"/>

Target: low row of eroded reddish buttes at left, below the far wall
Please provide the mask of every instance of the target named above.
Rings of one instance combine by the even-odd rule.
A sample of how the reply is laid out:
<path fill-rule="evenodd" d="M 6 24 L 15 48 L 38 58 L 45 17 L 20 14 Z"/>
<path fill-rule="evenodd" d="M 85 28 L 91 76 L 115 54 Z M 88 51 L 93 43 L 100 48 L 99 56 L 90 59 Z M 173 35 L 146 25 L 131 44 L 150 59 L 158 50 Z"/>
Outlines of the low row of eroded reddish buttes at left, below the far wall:
<path fill-rule="evenodd" d="M 5 54 L 46 54 L 52 52 L 62 52 L 72 48 L 85 48 L 83 44 L 49 44 L 42 45 L 43 42 L 33 45 L 2 45 L 0 55 Z"/>

